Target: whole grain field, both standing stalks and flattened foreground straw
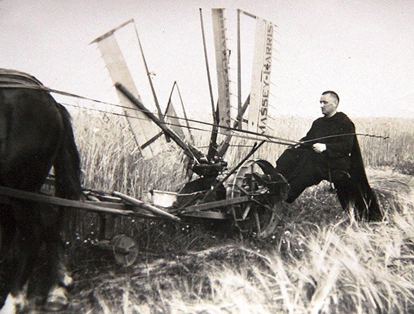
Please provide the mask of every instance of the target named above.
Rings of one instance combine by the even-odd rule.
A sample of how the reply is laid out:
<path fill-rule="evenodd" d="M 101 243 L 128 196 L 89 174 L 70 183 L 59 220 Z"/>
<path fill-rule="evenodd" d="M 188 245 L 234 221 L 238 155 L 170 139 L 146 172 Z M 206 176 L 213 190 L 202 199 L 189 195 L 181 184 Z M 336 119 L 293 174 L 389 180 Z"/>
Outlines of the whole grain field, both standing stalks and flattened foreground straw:
<path fill-rule="evenodd" d="M 122 117 L 77 112 L 75 137 L 83 186 L 141 197 L 144 190 L 177 190 L 185 157 L 174 144 L 155 159 L 139 157 Z M 312 119 L 280 117 L 273 135 L 303 137 Z M 139 256 L 120 268 L 94 249 L 97 215 L 72 213 L 66 232 L 75 278 L 69 311 L 79 313 L 413 313 L 414 121 L 355 119 L 371 186 L 384 222 L 356 222 L 324 183 L 285 208 L 270 239 L 244 237 L 203 224 L 117 218 L 112 233 L 137 240 Z M 195 133 L 199 147 L 208 132 Z M 252 140 L 234 139 L 229 168 Z M 285 146 L 265 144 L 255 158 L 275 159 Z M 205 149 L 205 148 L 204 148 Z M 112 236 L 113 236 L 112 235 Z"/>

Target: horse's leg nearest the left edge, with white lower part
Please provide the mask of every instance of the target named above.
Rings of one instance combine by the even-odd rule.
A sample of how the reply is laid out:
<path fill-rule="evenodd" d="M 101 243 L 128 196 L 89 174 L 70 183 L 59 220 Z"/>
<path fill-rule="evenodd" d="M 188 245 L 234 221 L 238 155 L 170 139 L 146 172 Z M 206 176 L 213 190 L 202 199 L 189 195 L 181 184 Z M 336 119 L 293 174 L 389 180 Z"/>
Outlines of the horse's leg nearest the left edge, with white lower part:
<path fill-rule="evenodd" d="M 2 312 L 3 309 L 6 311 L 6 308 L 8 311 L 13 309 L 19 311 L 25 307 L 28 278 L 36 263 L 41 245 L 41 226 L 37 206 L 30 202 L 13 201 L 12 208 L 17 225 L 15 248 L 17 270 Z"/>

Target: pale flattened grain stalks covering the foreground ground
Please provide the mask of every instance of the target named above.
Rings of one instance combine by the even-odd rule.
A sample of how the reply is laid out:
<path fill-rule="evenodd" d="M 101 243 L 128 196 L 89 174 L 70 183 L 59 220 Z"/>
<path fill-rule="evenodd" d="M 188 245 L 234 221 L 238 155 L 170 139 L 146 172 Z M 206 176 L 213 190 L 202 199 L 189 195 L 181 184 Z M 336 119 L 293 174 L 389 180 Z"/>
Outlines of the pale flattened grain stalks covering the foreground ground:
<path fill-rule="evenodd" d="M 143 252 L 129 268 L 96 260 L 78 268 L 75 300 L 91 300 L 85 313 L 411 313 L 413 181 L 400 179 L 399 198 L 380 195 L 386 222 L 355 222 L 317 187 L 287 208 L 294 223 L 274 239 L 157 233 L 170 251 Z"/>

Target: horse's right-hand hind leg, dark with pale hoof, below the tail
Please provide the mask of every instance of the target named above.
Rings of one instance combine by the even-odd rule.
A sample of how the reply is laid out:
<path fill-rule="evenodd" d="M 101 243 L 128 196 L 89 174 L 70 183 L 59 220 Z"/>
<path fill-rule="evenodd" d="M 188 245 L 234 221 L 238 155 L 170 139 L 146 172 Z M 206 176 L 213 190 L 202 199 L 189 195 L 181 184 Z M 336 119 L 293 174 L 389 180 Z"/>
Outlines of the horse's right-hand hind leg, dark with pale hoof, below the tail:
<path fill-rule="evenodd" d="M 48 254 L 50 289 L 46 298 L 47 311 L 59 311 L 68 305 L 67 288 L 72 285 L 66 268 L 64 245 L 61 238 L 61 211 L 57 208 L 46 208 L 41 212 L 43 224 L 43 239 L 46 242 Z"/>

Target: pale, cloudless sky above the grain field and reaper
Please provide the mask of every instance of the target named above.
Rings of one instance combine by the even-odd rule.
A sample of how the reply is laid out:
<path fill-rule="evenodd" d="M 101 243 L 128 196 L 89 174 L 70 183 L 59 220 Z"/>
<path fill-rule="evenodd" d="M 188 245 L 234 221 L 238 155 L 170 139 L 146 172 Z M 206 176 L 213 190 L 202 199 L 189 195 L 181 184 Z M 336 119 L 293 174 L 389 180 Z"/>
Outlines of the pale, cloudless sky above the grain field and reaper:
<path fill-rule="evenodd" d="M 206 117 L 211 105 L 199 8 L 216 101 L 211 8 L 226 8 L 233 64 L 239 8 L 277 26 L 270 99 L 274 116 L 318 117 L 321 93 L 335 90 L 339 110 L 350 117 L 414 117 L 412 0 L 0 0 L 0 68 L 28 72 L 49 88 L 114 102 L 108 72 L 90 42 L 134 19 L 161 107 L 177 81 L 188 115 Z M 243 99 L 250 84 L 251 20 L 242 18 Z M 117 32 L 117 39 L 151 108 L 132 24 Z M 231 67 L 236 82 L 236 66 Z M 237 86 L 230 87 L 235 97 Z"/>

